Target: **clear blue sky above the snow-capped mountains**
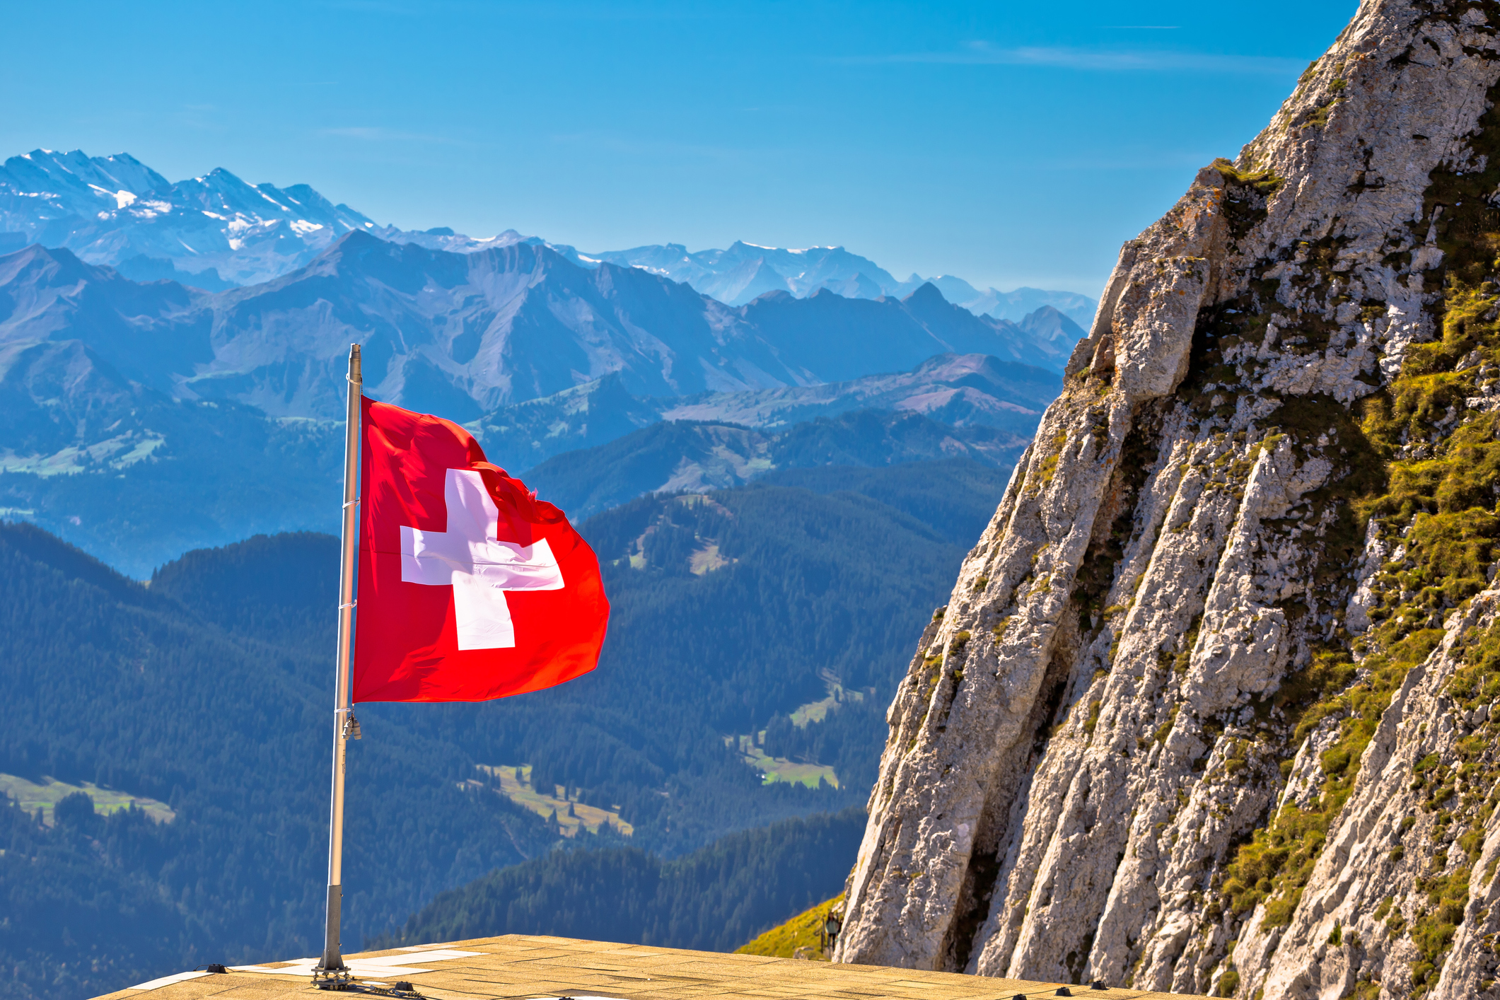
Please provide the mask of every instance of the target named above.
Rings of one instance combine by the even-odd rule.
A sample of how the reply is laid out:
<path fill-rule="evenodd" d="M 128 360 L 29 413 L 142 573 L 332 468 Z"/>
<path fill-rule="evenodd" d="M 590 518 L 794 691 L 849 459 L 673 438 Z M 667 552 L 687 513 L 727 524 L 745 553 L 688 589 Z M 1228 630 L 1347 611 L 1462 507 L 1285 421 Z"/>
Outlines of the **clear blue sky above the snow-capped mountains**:
<path fill-rule="evenodd" d="M 842 244 L 1096 294 L 1354 6 L 24 0 L 0 154 L 224 166 L 405 228 Z"/>

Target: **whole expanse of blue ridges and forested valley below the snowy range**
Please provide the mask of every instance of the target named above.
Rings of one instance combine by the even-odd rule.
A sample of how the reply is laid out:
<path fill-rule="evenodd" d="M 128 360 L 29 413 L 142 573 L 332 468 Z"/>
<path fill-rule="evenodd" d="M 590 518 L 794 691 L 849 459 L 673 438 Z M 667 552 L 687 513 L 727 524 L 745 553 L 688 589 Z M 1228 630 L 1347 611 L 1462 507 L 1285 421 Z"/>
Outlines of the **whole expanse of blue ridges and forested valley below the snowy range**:
<path fill-rule="evenodd" d="M 1072 321 L 926 283 L 730 307 L 531 243 L 352 232 L 278 267 L 204 288 L 0 256 L 15 990 L 315 949 L 350 339 L 374 396 L 466 421 L 573 517 L 614 613 L 560 688 L 360 706 L 345 937 L 732 951 L 836 895 L 910 637 Z"/>

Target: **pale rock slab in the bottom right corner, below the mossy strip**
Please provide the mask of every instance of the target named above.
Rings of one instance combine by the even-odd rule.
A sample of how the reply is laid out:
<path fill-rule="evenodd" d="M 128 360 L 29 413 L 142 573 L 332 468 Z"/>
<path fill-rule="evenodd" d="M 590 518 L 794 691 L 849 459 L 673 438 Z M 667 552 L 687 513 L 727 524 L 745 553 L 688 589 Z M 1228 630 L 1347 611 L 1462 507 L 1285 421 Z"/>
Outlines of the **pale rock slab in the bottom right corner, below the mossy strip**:
<path fill-rule="evenodd" d="M 1497 640 L 1500 591 L 1491 589 L 1452 613 L 1437 651 L 1406 672 L 1302 906 L 1275 927 L 1258 907 L 1244 928 L 1234 961 L 1246 988 L 1266 997 L 1492 993 Z"/>

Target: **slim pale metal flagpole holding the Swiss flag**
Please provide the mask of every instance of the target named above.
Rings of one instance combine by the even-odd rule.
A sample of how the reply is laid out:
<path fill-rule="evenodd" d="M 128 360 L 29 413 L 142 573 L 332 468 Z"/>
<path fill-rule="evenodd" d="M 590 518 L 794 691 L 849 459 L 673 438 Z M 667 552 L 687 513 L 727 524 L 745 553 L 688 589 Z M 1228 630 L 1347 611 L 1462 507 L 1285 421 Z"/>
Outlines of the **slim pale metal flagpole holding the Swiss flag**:
<path fill-rule="evenodd" d="M 338 690 L 333 696 L 333 792 L 328 808 L 328 910 L 322 937 L 322 961 L 316 972 L 348 973 L 339 940 L 339 910 L 344 901 L 344 751 L 360 738 L 350 705 L 350 643 L 354 631 L 354 555 L 360 526 L 360 345 L 350 345 L 350 397 L 344 424 L 344 546 L 339 555 L 339 651 Z"/>

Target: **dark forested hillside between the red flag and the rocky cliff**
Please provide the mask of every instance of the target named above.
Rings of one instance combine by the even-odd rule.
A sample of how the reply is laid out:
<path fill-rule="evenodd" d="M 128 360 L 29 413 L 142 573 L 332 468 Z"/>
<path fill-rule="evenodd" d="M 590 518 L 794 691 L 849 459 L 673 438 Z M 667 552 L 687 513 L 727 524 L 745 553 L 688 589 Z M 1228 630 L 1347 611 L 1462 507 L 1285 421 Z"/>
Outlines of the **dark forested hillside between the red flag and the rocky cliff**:
<path fill-rule="evenodd" d="M 862 805 L 885 739 L 873 706 L 890 702 L 909 637 L 946 600 L 942 574 L 1005 480 L 966 460 L 846 472 L 860 492 L 768 481 L 646 496 L 590 519 L 580 529 L 614 606 L 598 670 L 524 699 L 381 711 L 478 762 L 526 762 L 538 783 L 622 805 L 634 843 L 666 856 L 724 831 Z M 843 768 L 842 789 L 762 787 L 722 736 L 825 697 L 828 675 L 873 688 L 804 736 L 824 741 L 818 763 Z"/>

